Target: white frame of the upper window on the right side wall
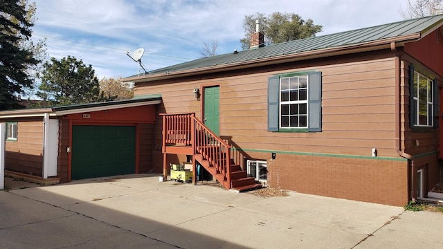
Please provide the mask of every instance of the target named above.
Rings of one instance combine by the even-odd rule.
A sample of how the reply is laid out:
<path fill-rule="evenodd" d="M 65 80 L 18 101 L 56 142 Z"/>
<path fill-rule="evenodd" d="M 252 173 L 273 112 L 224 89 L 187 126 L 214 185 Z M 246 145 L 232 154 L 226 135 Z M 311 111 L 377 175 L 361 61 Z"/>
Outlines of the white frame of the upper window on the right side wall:
<path fill-rule="evenodd" d="M 422 88 L 420 88 L 420 80 L 426 80 L 426 86 L 422 86 Z M 424 82 L 422 82 L 424 83 Z M 434 122 L 434 84 L 433 84 L 433 80 L 431 80 L 430 78 L 426 77 L 425 75 L 423 75 L 422 73 L 418 73 L 417 71 L 414 71 L 414 89 L 413 89 L 413 100 L 414 100 L 414 108 L 415 108 L 415 127 L 433 127 L 433 122 Z M 424 91 L 426 88 L 426 97 L 424 97 L 424 95 L 420 96 L 420 89 L 422 89 L 422 91 Z M 426 100 L 422 100 L 424 98 L 426 98 Z M 426 107 L 423 107 L 424 104 L 426 103 Z M 421 105 L 420 105 L 421 104 Z M 422 114 L 424 113 L 423 109 L 426 109 L 426 118 L 420 118 L 420 116 L 424 116 L 424 115 L 420 115 L 420 109 L 422 109 Z"/>

